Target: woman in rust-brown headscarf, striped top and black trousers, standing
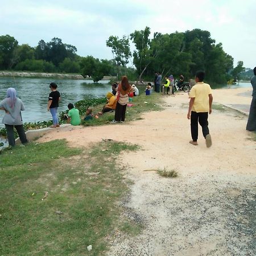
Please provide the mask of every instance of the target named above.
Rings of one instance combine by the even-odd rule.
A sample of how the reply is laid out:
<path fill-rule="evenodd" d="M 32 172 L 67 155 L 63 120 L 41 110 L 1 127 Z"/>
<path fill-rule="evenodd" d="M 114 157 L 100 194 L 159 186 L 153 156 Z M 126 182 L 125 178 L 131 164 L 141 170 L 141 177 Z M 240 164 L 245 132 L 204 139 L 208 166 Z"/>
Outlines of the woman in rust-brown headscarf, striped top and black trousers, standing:
<path fill-rule="evenodd" d="M 117 87 L 117 106 L 115 108 L 115 119 L 112 123 L 125 121 L 126 106 L 129 102 L 128 95 L 130 92 L 133 92 L 132 86 L 129 84 L 127 76 L 123 76 L 121 84 Z"/>

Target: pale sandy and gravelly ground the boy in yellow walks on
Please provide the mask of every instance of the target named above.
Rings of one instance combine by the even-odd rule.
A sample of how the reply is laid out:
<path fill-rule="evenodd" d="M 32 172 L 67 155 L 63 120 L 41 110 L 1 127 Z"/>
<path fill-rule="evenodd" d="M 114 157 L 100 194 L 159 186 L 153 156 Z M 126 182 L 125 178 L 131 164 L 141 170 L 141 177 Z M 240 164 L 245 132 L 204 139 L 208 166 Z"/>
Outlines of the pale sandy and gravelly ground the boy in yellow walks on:
<path fill-rule="evenodd" d="M 213 90 L 214 103 L 250 105 L 250 88 Z M 239 94 L 239 96 L 238 96 Z M 71 146 L 102 139 L 136 143 L 142 150 L 121 156 L 120 168 L 134 181 L 123 214 L 144 226 L 135 237 L 115 233 L 109 255 L 255 255 L 256 143 L 247 117 L 213 110 L 207 148 L 190 139 L 188 95 L 163 96 L 162 112 L 140 121 L 53 130 L 41 142 L 66 138 Z M 155 171 L 175 169 L 177 178 Z"/>

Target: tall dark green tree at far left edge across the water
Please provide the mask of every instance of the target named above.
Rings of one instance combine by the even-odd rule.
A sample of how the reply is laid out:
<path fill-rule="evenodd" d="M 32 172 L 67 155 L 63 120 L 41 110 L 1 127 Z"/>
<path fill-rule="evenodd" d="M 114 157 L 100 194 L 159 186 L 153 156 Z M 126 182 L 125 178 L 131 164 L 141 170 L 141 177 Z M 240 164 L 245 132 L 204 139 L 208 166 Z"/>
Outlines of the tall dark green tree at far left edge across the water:
<path fill-rule="evenodd" d="M 14 49 L 18 41 L 10 35 L 0 36 L 0 68 L 9 69 L 12 66 Z"/>

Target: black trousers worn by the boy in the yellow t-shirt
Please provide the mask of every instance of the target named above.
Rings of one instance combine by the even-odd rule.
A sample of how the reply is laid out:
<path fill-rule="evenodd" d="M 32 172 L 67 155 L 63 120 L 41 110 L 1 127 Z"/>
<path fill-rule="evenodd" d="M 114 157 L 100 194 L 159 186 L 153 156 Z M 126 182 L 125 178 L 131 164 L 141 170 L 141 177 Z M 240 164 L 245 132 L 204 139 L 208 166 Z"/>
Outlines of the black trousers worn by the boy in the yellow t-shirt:
<path fill-rule="evenodd" d="M 204 138 L 206 137 L 207 134 L 209 134 L 208 112 L 197 113 L 192 111 L 190 120 L 191 137 L 193 141 L 197 141 L 198 138 L 198 123 L 202 126 Z"/>

